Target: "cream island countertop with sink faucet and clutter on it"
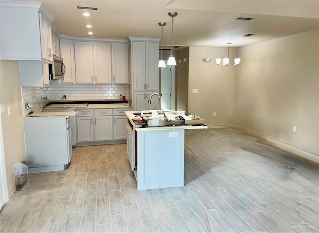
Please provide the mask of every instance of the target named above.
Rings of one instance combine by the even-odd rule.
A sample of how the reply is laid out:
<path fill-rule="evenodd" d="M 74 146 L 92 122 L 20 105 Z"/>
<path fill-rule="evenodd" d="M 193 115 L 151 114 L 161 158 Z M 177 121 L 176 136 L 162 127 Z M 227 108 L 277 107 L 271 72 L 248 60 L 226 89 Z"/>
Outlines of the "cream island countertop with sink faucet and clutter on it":
<path fill-rule="evenodd" d="M 136 131 L 158 131 L 158 130 L 176 130 L 176 129 L 207 129 L 208 128 L 207 125 L 204 125 L 204 124 L 202 124 L 202 125 L 191 125 L 191 124 L 178 125 L 178 124 L 176 124 L 176 125 L 166 125 L 166 126 L 157 126 L 157 127 L 138 127 L 133 120 L 135 117 L 139 116 L 139 113 L 142 113 L 142 115 L 144 114 L 145 116 L 151 115 L 152 117 L 157 117 L 157 116 L 159 116 L 158 112 L 161 112 L 161 111 L 163 111 L 163 110 L 125 111 L 124 113 Z M 164 111 L 166 111 L 166 110 L 164 110 Z M 173 110 L 167 110 L 167 111 L 173 111 Z"/>

